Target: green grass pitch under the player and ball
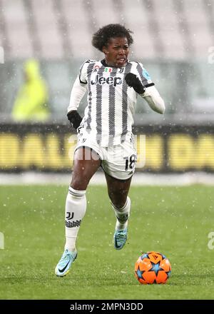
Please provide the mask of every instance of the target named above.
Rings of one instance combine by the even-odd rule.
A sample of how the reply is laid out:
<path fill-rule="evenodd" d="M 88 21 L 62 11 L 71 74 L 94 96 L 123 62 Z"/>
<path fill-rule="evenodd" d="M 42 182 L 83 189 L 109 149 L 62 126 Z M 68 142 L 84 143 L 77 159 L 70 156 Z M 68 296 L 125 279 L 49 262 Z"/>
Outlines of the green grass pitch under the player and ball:
<path fill-rule="evenodd" d="M 132 186 L 128 243 L 112 245 L 115 216 L 105 186 L 87 191 L 78 258 L 57 278 L 63 253 L 67 186 L 0 186 L 1 299 L 213 299 L 214 187 Z M 165 254 L 172 273 L 165 285 L 141 285 L 134 264 L 141 252 Z"/>

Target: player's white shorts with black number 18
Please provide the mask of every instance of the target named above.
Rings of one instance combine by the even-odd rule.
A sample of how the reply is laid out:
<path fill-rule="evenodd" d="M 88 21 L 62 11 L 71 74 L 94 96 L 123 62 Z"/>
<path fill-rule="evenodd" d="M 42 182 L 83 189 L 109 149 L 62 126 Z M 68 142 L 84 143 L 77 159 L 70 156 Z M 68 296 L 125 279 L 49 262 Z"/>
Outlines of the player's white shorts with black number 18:
<path fill-rule="evenodd" d="M 88 133 L 78 133 L 75 151 L 80 147 L 89 147 L 101 159 L 101 167 L 109 176 L 119 180 L 127 180 L 133 176 L 136 168 L 137 153 L 133 139 L 111 147 L 102 147 Z M 91 158 L 91 153 L 88 154 Z"/>

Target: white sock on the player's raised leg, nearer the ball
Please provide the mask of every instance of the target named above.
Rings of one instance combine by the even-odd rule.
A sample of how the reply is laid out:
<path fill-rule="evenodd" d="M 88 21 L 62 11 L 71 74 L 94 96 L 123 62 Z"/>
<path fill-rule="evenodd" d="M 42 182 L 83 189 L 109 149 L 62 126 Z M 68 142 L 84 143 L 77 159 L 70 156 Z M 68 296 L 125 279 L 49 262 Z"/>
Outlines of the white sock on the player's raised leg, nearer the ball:
<path fill-rule="evenodd" d="M 116 214 L 116 230 L 124 230 L 128 226 L 128 218 L 130 216 L 130 209 L 131 209 L 131 200 L 127 196 L 126 204 L 123 206 L 123 208 L 116 208 L 113 203 L 111 203 L 111 206 Z"/>

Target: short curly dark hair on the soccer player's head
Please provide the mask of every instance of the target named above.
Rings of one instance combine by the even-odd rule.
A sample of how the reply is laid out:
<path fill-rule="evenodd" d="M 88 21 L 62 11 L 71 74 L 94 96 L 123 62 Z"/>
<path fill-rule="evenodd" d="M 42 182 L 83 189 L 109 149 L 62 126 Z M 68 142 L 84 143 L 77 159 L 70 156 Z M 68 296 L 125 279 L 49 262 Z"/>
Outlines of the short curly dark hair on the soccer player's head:
<path fill-rule="evenodd" d="M 115 37 L 126 37 L 128 40 L 128 46 L 130 46 L 133 44 L 131 34 L 133 34 L 133 31 L 126 29 L 126 27 L 121 24 L 108 24 L 103 26 L 101 29 L 98 29 L 98 31 L 93 34 L 92 45 L 96 49 L 102 51 L 103 47 L 108 45 L 109 39 Z"/>

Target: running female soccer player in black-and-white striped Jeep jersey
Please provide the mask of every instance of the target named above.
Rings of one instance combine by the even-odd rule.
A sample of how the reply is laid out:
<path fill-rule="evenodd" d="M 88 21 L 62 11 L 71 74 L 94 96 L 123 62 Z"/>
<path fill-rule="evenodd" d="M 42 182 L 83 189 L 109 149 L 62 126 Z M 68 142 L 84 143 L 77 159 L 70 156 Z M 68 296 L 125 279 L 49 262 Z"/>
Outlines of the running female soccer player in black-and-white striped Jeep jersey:
<path fill-rule="evenodd" d="M 86 188 L 101 166 L 108 196 L 116 213 L 113 245 L 121 250 L 128 236 L 131 201 L 128 191 L 135 170 L 133 114 L 138 95 L 153 111 L 163 113 L 164 101 L 140 62 L 129 61 L 131 31 L 109 24 L 93 35 L 92 44 L 104 54 L 101 61 L 87 60 L 80 68 L 71 91 L 68 120 L 78 132 L 73 174 L 66 198 L 66 244 L 55 273 L 64 276 L 76 259 L 76 237 L 86 213 Z M 88 91 L 83 118 L 77 108 Z"/>

